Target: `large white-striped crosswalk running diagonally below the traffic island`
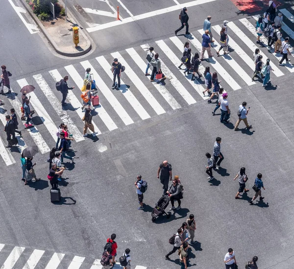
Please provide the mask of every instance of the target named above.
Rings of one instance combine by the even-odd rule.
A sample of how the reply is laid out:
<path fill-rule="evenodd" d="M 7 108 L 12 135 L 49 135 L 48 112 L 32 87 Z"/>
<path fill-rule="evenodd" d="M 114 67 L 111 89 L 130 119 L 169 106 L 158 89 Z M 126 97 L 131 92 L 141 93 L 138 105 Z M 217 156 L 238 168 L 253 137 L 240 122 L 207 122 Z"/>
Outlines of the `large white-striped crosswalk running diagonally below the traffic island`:
<path fill-rule="evenodd" d="M 284 15 L 282 26 L 283 37 L 289 36 L 291 42 L 294 39 L 294 9 L 281 9 Z M 199 66 L 199 72 L 203 73 L 209 66 L 211 72 L 217 72 L 221 86 L 226 92 L 237 91 L 243 88 L 258 85 L 258 81 L 252 81 L 251 76 L 255 70 L 252 54 L 256 48 L 260 48 L 260 54 L 264 59 L 270 58 L 273 68 L 272 81 L 275 77 L 289 76 L 294 72 L 294 66 L 287 63 L 285 67 L 278 66 L 281 59 L 280 53 L 274 53 L 274 49 L 268 50 L 267 38 L 261 37 L 261 47 L 256 44 L 255 23 L 257 17 L 247 17 L 228 24 L 229 45 L 233 49 L 228 55 L 216 56 L 218 51 L 221 25 L 212 26 L 215 42 L 212 44 L 212 53 L 215 55 L 208 61 L 203 61 Z M 91 68 L 91 73 L 96 80 L 100 104 L 92 107 L 93 126 L 96 136 L 108 132 L 127 130 L 142 122 L 150 122 L 150 119 L 160 119 L 162 115 L 171 114 L 188 106 L 196 106 L 199 101 L 207 100 L 209 96 L 203 95 L 205 90 L 204 78 L 191 80 L 192 74 L 185 74 L 178 69 L 181 63 L 183 46 L 189 41 L 192 54 L 200 54 L 202 49 L 201 36 L 203 30 L 194 31 L 187 39 L 185 36 L 172 36 L 170 38 L 156 40 L 152 44 L 142 44 L 138 47 L 127 48 L 122 51 L 114 51 L 101 55 L 94 59 L 84 60 L 79 63 L 68 64 L 62 68 L 36 73 L 31 77 L 17 80 L 11 78 L 12 94 L 4 99 L 4 106 L 0 107 L 0 124 L 5 125 L 5 115 L 10 108 L 14 108 L 23 137 L 16 135 L 19 144 L 16 150 L 5 147 L 6 135 L 0 133 L 0 162 L 5 165 L 13 165 L 19 159 L 19 152 L 30 145 L 36 145 L 42 154 L 48 153 L 54 147 L 57 140 L 56 130 L 61 122 L 68 125 L 75 143 L 86 143 L 83 137 L 84 112 L 80 98 L 85 69 Z M 167 76 L 165 81 L 150 82 L 150 76 L 145 76 L 149 47 L 159 53 L 161 69 Z M 292 50 L 292 48 L 291 48 Z M 207 57 L 207 55 L 206 55 Z M 120 89 L 112 89 L 113 74 L 111 64 L 113 58 L 118 58 L 125 66 L 121 77 Z M 205 56 L 204 56 L 205 58 Z M 151 72 L 151 70 L 149 70 Z M 68 84 L 74 86 L 67 96 L 67 107 L 61 106 L 61 93 L 56 91 L 55 82 L 69 76 Z M 21 124 L 21 88 L 27 84 L 35 86 L 35 91 L 30 93 L 31 109 L 35 110 L 34 120 L 38 124 L 23 130 Z M 22 122 L 24 123 L 24 122 Z M 74 144 L 73 144 L 74 145 Z"/>

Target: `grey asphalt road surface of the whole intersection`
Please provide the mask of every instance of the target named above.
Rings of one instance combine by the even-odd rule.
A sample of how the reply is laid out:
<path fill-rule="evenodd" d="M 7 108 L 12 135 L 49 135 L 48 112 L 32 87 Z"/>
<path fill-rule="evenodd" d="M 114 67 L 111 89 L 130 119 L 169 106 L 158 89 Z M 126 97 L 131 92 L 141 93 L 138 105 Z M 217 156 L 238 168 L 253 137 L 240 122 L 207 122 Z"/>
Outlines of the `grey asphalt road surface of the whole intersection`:
<path fill-rule="evenodd" d="M 132 1 L 124 2 L 134 16 L 157 9 L 146 7 L 146 2 L 143 1 L 138 6 Z M 79 2 L 81 6 L 84 3 Z M 278 66 L 276 54 L 261 48 L 271 63 L 277 66 L 277 69 L 273 68 L 276 73 L 271 73 L 271 86 L 262 88 L 261 81 L 257 78 L 255 83 L 248 85 L 250 81 L 246 80 L 246 75 L 250 78 L 253 71 L 246 62 L 245 55 L 252 58 L 255 37 L 249 26 L 255 23 L 255 19 L 249 15 L 232 15 L 237 14 L 238 10 L 230 1 L 218 0 L 213 3 L 189 9 L 189 14 L 194 14 L 194 17 L 190 15 L 191 25 L 197 25 L 191 26 L 195 38 L 190 37 L 189 42 L 192 44 L 192 52 L 196 52 L 194 44 L 201 41 L 198 30 L 201 30 L 202 21 L 209 13 L 213 16 L 213 25 L 220 25 L 224 19 L 230 21 L 228 26 L 231 41 L 235 41 L 244 50 L 244 54 L 240 54 L 238 47 L 231 43 L 235 51 L 227 56 L 227 60 L 223 56 L 215 57 L 215 62 L 229 74 L 220 75 L 232 113 L 227 125 L 220 123 L 218 113 L 212 116 L 215 105 L 207 104 L 201 91 L 197 92 L 198 86 L 204 90 L 203 77 L 198 80 L 198 84 L 191 84 L 191 75 L 187 76 L 190 79 L 185 77 L 173 61 L 172 53 L 177 58 L 181 57 L 176 44 L 187 40 L 183 35 L 178 37 L 179 41 L 174 39 L 173 31 L 178 27 L 178 11 L 92 32 L 90 35 L 98 49 L 84 59 L 69 60 L 52 54 L 42 40 L 42 35 L 30 34 L 11 4 L 5 2 L 7 12 L 3 12 L 3 9 L 0 11 L 0 21 L 6 24 L 6 27 L 0 29 L 0 58 L 13 73 L 11 86 L 15 92 L 20 90 L 23 79 L 36 86 L 32 107 L 36 110 L 33 121 L 38 131 L 34 131 L 35 136 L 32 131 L 25 131 L 18 119 L 23 132 L 23 138 L 19 139 L 24 143 L 19 148 L 43 140 L 46 145 L 42 144 L 40 150 L 42 148 L 46 152 L 47 147 L 54 147 L 50 128 L 58 126 L 64 119 L 77 128 L 74 134 L 81 136 L 83 122 L 74 97 L 80 99 L 79 75 L 83 75 L 85 65 L 91 64 L 106 84 L 104 86 L 95 74 L 102 107 L 97 107 L 92 113 L 93 121 L 101 134 L 96 138 L 73 142 L 73 150 L 69 154 L 77 159 L 73 164 L 66 163 L 69 170 L 65 172 L 66 179 L 60 186 L 60 203 L 52 204 L 49 199 L 48 152 L 39 152 L 34 158 L 37 163 L 35 171 L 41 180 L 25 186 L 21 181 L 19 149 L 14 147 L 7 151 L 4 148 L 2 151 L 3 148 L 0 147 L 0 265 L 3 265 L 3 269 L 92 269 L 92 266 L 96 269 L 99 267 L 94 267 L 93 264 L 101 258 L 106 239 L 112 233 L 117 234 L 117 258 L 125 248 L 131 249 L 132 268 L 178 269 L 180 266 L 176 253 L 171 255 L 172 261 L 166 261 L 164 256 L 172 249 L 169 238 L 189 214 L 194 214 L 196 218 L 197 244 L 191 244 L 190 253 L 191 264 L 194 265 L 192 268 L 224 268 L 223 257 L 229 247 L 236 253 L 239 268 L 254 255 L 259 257 L 259 269 L 293 268 L 293 69 L 290 65 Z M 163 1 L 160 8 L 174 4 L 172 0 Z M 88 8 L 98 6 L 89 4 Z M 283 8 L 294 16 L 291 6 Z M 140 12 L 141 9 L 145 11 Z M 122 12 L 122 16 L 126 18 L 127 14 Z M 292 20 L 290 17 L 284 21 L 290 30 L 294 29 Z M 148 25 L 148 31 L 142 31 L 143 24 L 145 27 Z M 233 24 L 252 44 L 240 33 L 237 34 Z M 132 31 L 132 28 L 135 30 Z M 123 32 L 121 39 L 113 38 L 115 31 Z M 213 31 L 215 40 L 219 41 L 217 31 Z M 283 36 L 290 35 L 289 33 L 291 34 L 288 28 L 283 29 Z M 104 40 L 101 44 L 97 42 L 99 35 Z M 19 42 L 18 37 L 24 43 Z M 118 44 L 111 43 L 111 40 L 116 40 Z M 172 53 L 163 46 L 163 42 Z M 153 86 L 141 71 L 145 66 L 138 68 L 134 61 L 134 51 L 125 50 L 133 48 L 139 58 L 145 61 L 145 52 L 141 47 L 144 44 L 153 46 L 169 68 L 165 85 L 155 83 Z M 294 44 L 293 37 L 291 44 Z M 128 65 L 138 77 L 134 78 L 132 73 L 130 78 L 130 69 L 126 69 L 122 74 L 122 85 L 128 86 L 123 86 L 121 91 L 110 89 L 112 81 L 108 76 L 107 62 L 112 63 L 114 55 L 111 53 L 116 51 L 120 52 L 124 65 Z M 213 54 L 216 56 L 215 49 Z M 102 58 L 95 58 L 100 56 Z M 240 65 L 238 69 L 232 63 L 233 59 Z M 80 64 L 82 61 L 89 62 Z M 202 65 L 210 66 L 213 71 L 219 70 L 215 62 L 204 61 Z M 75 86 L 73 96 L 68 101 L 69 106 L 62 112 L 56 101 L 61 95 L 54 89 L 54 75 L 56 77 L 58 73 L 62 76 L 69 74 L 69 85 Z M 152 93 L 159 106 L 155 105 L 154 100 L 143 96 L 140 90 L 144 87 L 139 84 L 139 80 Z M 48 88 L 42 88 L 45 82 Z M 235 89 L 235 83 L 240 86 L 239 89 Z M 108 88 L 107 91 L 105 87 Z M 179 89 L 183 93 L 183 88 L 191 97 L 184 98 L 180 94 Z M 161 94 L 164 89 L 173 97 L 170 102 Z M 130 93 L 133 97 L 128 99 Z M 5 113 L 9 113 L 12 106 L 17 108 L 20 97 L 12 95 L 1 99 L 5 102 L 0 108 L 0 120 L 3 122 Z M 139 105 L 136 103 L 138 106 L 135 105 L 135 99 L 139 102 Z M 250 131 L 242 129 L 245 126 L 241 122 L 241 130 L 235 132 L 233 124 L 237 121 L 237 109 L 243 101 L 250 106 L 248 122 L 253 128 Z M 172 107 L 177 104 L 177 108 Z M 142 108 L 139 109 L 140 105 L 147 114 Z M 163 113 L 156 110 L 160 106 Z M 142 115 L 149 117 L 142 119 Z M 126 124 L 124 121 L 133 123 Z M 40 137 L 36 139 L 36 133 L 40 134 L 42 140 Z M 212 152 L 217 136 L 222 138 L 221 152 L 224 160 L 221 169 L 213 172 L 215 180 L 210 183 L 206 179 L 205 153 Z M 0 132 L 0 138 L 0 144 L 5 144 L 6 135 L 3 131 Z M 3 156 L 8 157 L 5 159 Z M 156 173 L 163 160 L 172 164 L 173 175 L 180 176 L 184 185 L 184 198 L 182 209 L 171 212 L 170 219 L 162 216 L 152 222 L 151 211 L 162 195 L 162 185 Z M 246 168 L 249 178 L 247 187 L 250 191 L 242 199 L 236 200 L 239 184 L 233 178 L 241 167 Z M 265 199 L 257 199 L 254 205 L 249 205 L 247 201 L 253 196 L 251 187 L 258 172 L 263 174 L 266 190 L 262 193 Z M 134 186 L 137 174 L 142 174 L 148 182 L 145 209 L 142 211 L 137 209 Z M 30 259 L 32 253 L 34 255 Z M 72 264 L 73 260 L 76 262 Z M 36 263 L 32 265 L 33 262 Z"/>

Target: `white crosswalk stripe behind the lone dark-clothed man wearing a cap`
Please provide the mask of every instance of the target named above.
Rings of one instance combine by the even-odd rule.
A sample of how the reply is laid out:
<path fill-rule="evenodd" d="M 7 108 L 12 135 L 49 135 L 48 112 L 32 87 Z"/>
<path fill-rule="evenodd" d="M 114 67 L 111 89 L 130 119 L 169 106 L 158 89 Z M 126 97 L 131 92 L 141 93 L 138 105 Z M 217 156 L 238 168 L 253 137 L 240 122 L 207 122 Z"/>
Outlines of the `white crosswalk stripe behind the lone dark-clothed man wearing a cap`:
<path fill-rule="evenodd" d="M 101 67 L 104 69 L 104 71 L 108 74 L 108 76 L 112 80 L 113 79 L 113 73 L 110 70 L 111 65 L 107 62 L 107 60 L 104 58 L 104 56 L 97 57 L 96 60 L 99 62 Z M 122 63 L 122 65 L 123 65 L 123 63 Z M 146 119 L 150 118 L 150 116 L 148 115 L 145 108 L 140 104 L 140 102 L 137 100 L 137 98 L 135 98 L 135 96 L 132 94 L 130 89 L 128 89 L 126 87 L 126 85 L 123 83 L 122 78 L 121 78 L 120 92 L 127 99 L 127 101 L 134 108 L 134 110 L 137 112 L 137 114 L 141 117 L 142 120 L 146 120 Z"/>

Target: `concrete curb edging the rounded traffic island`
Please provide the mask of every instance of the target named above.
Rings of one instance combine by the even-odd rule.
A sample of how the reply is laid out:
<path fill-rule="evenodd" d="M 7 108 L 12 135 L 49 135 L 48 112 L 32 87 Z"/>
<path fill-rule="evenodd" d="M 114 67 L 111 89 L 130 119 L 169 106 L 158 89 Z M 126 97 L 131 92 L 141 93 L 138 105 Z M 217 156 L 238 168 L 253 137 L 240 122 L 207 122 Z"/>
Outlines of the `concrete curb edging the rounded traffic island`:
<path fill-rule="evenodd" d="M 79 33 L 82 34 L 82 36 L 87 41 L 86 49 L 84 49 L 83 51 L 77 51 L 77 52 L 73 52 L 73 53 L 68 53 L 68 52 L 65 52 L 65 51 L 60 50 L 59 47 L 58 47 L 58 45 L 55 43 L 55 41 L 52 40 L 52 38 L 50 38 L 50 35 L 47 32 L 47 30 L 45 29 L 44 25 L 40 22 L 39 18 L 33 13 L 32 9 L 27 4 L 27 2 L 25 0 L 20 0 L 20 1 L 24 5 L 25 10 L 30 14 L 30 16 L 33 18 L 33 20 L 35 21 L 35 23 L 38 25 L 39 29 L 42 31 L 42 33 L 44 34 L 44 36 L 47 38 L 47 40 L 50 43 L 50 45 L 52 46 L 52 48 L 57 53 L 59 53 L 59 54 L 61 54 L 63 56 L 77 57 L 77 56 L 85 55 L 86 53 L 88 53 L 92 49 L 92 44 L 91 44 L 90 38 L 87 36 L 87 34 L 84 33 L 84 31 L 82 29 L 79 29 Z M 59 3 L 64 6 L 64 3 L 61 0 L 59 0 Z M 72 12 L 69 11 L 69 9 L 67 9 L 67 12 L 68 12 L 68 17 L 71 17 L 74 20 L 74 22 L 76 24 L 78 24 L 77 23 L 77 20 L 75 19 L 75 17 L 72 14 Z"/>

